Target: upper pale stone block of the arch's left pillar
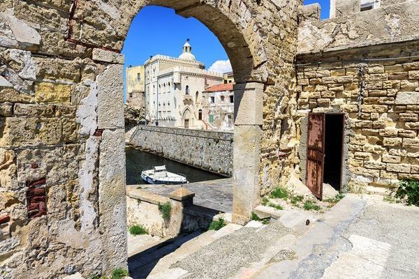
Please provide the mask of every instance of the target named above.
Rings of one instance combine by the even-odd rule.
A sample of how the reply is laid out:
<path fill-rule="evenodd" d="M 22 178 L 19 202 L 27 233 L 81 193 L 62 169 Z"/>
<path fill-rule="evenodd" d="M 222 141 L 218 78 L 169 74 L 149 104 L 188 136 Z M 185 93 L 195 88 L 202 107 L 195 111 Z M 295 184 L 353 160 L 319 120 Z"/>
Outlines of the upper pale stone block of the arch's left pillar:
<path fill-rule="evenodd" d="M 110 65 L 96 77 L 99 129 L 124 127 L 122 68 L 122 65 Z"/>

